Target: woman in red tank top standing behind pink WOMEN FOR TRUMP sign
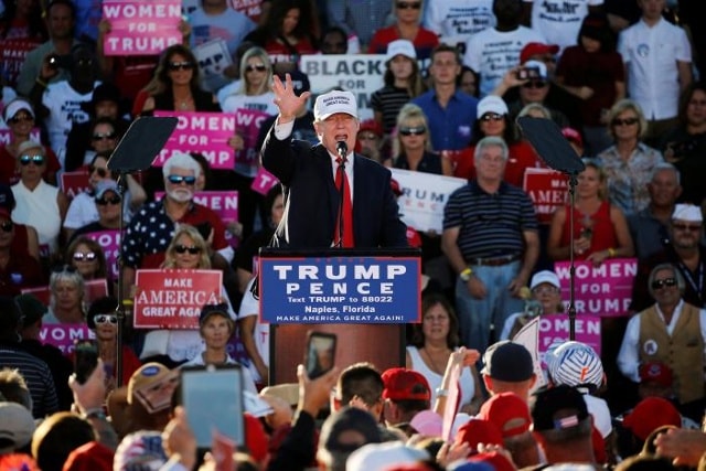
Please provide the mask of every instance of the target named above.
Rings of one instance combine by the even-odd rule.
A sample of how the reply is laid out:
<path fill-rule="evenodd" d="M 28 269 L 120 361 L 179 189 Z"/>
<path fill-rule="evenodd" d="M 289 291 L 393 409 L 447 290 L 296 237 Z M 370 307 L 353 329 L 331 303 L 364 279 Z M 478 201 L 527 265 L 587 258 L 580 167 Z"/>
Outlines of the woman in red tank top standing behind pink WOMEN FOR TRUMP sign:
<path fill-rule="evenodd" d="M 547 254 L 553 260 L 570 257 L 569 211 L 574 212 L 574 257 L 598 266 L 608 258 L 632 257 L 634 250 L 622 211 L 606 196 L 606 173 L 596 159 L 584 159 L 574 207 L 556 210 L 549 226 Z"/>

